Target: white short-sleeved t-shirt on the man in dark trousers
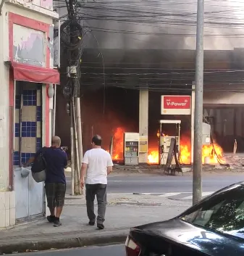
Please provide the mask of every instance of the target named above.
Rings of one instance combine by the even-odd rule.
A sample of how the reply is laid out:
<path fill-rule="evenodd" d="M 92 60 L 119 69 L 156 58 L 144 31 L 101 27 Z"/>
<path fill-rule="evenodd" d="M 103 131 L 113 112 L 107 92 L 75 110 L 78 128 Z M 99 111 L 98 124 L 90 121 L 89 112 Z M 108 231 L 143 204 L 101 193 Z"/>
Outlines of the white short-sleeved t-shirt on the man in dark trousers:
<path fill-rule="evenodd" d="M 104 149 L 91 149 L 85 152 L 83 163 L 88 165 L 86 171 L 87 184 L 107 184 L 107 167 L 113 166 L 109 152 Z"/>

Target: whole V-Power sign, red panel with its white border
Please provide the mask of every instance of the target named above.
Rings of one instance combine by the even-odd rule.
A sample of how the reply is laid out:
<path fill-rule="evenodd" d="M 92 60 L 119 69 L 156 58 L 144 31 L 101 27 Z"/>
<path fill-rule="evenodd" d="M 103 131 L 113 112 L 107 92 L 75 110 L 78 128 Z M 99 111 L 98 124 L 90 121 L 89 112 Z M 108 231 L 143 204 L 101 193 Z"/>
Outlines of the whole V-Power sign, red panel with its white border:
<path fill-rule="evenodd" d="M 162 95 L 161 115 L 190 115 L 191 97 L 188 95 Z"/>

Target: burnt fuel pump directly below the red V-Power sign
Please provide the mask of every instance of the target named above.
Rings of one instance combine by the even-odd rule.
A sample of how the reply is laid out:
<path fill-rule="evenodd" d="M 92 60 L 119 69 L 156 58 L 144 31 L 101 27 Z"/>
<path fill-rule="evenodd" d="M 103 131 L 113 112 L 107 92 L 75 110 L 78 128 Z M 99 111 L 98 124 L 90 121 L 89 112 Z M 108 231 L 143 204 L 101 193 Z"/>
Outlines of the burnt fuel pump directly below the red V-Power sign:
<path fill-rule="evenodd" d="M 159 165 L 166 165 L 172 139 L 176 141 L 177 157 L 180 155 L 180 124 L 181 120 L 159 120 Z M 167 134 L 165 131 L 170 131 Z M 173 158 L 172 165 L 175 165 Z"/>

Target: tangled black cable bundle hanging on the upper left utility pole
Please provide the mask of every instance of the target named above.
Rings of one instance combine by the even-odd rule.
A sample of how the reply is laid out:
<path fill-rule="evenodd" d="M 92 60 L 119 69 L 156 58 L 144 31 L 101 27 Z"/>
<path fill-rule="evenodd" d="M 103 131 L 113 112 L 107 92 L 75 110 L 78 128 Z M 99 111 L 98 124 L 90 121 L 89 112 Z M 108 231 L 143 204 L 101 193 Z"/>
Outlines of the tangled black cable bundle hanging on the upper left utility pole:
<path fill-rule="evenodd" d="M 68 99 L 71 96 L 80 96 L 80 85 L 85 83 L 80 83 L 81 72 L 80 64 L 82 62 L 83 51 L 85 47 L 85 36 L 90 33 L 95 39 L 96 43 L 98 41 L 96 36 L 93 35 L 91 30 L 85 28 L 83 16 L 80 15 L 80 2 L 77 1 L 67 1 L 65 0 L 67 7 L 67 15 L 60 17 L 62 20 L 62 25 L 60 27 L 61 35 L 61 46 L 62 46 L 62 67 L 75 67 L 77 75 L 74 77 L 70 73 L 70 70 L 60 69 L 61 75 L 67 77 L 67 82 L 63 86 L 63 94 Z M 60 2 L 58 1 L 58 7 L 60 8 Z M 98 44 L 99 46 L 99 44 Z M 102 57 L 103 63 L 103 83 L 104 83 L 104 95 L 105 95 L 105 67 L 104 67 L 104 56 L 101 52 L 98 55 Z M 71 79 L 70 79 L 71 78 Z M 75 86 L 74 86 L 75 85 Z M 105 101 L 105 97 L 104 97 Z"/>

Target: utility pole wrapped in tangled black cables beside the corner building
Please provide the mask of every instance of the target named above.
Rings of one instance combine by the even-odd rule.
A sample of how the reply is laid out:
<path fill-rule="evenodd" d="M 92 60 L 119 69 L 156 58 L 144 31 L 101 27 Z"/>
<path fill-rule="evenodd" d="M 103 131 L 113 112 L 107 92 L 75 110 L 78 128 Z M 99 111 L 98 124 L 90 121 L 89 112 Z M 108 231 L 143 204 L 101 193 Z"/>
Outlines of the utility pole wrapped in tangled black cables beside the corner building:
<path fill-rule="evenodd" d="M 77 16 L 77 0 L 68 0 L 67 12 L 67 20 L 60 26 L 59 38 L 62 43 L 62 68 L 60 70 L 67 77 L 66 84 L 63 86 L 63 94 L 69 102 L 67 113 L 70 114 L 72 194 L 81 194 L 80 165 L 83 144 L 80 117 L 80 62 L 83 53 L 83 26 L 80 25 Z"/>

